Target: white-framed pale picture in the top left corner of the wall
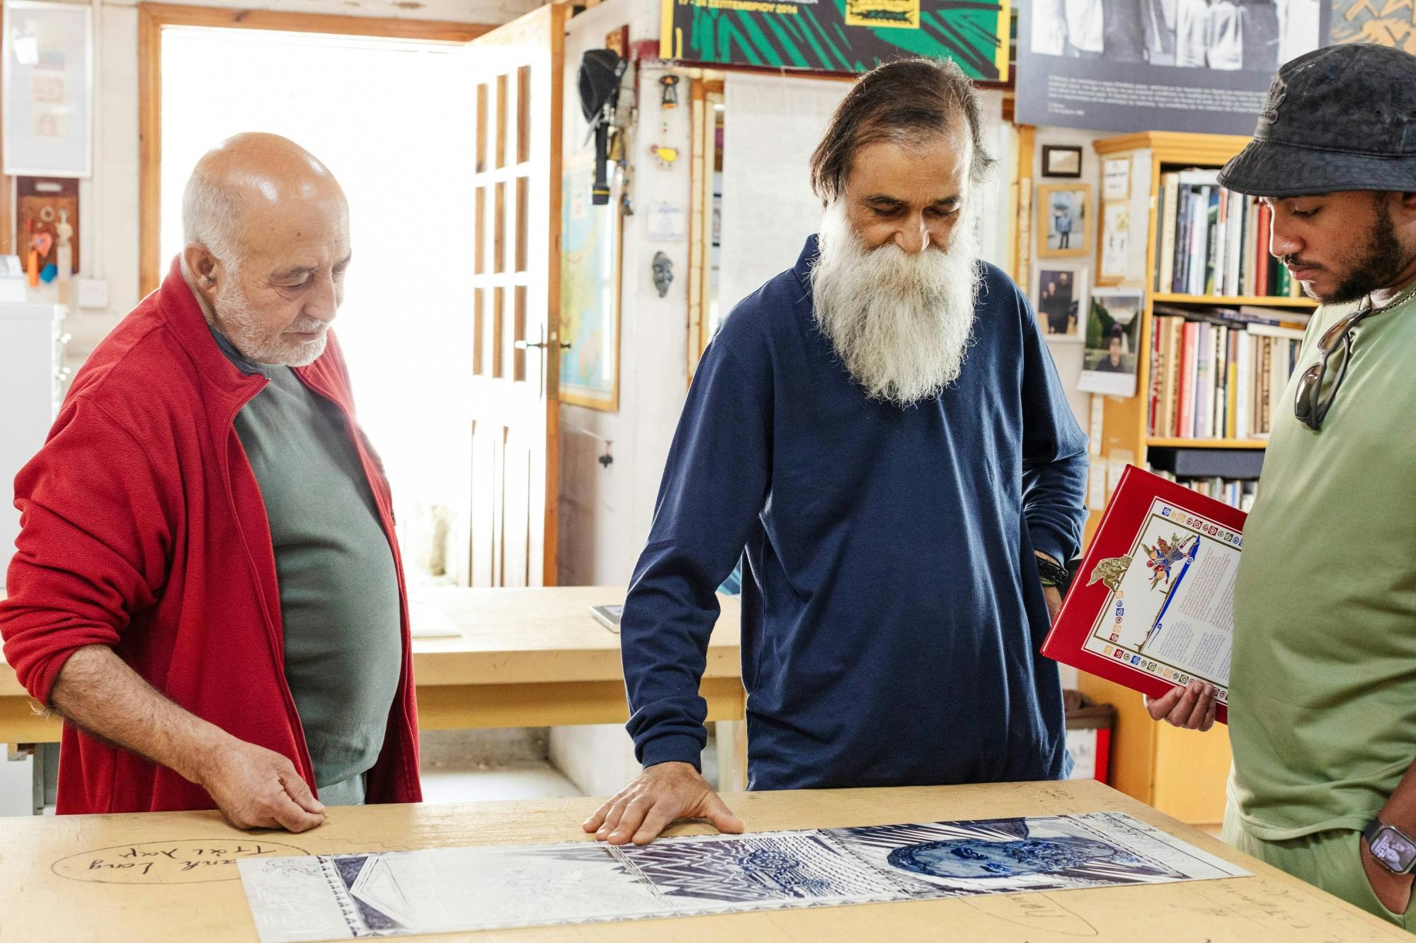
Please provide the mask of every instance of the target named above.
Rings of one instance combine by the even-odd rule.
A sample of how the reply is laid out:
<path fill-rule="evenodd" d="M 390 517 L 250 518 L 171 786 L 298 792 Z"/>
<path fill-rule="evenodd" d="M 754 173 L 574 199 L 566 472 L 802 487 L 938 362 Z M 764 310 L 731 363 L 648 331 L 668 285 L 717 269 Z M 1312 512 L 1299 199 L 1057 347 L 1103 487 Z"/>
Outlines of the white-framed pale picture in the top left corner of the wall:
<path fill-rule="evenodd" d="M 92 7 L 7 0 L 0 88 L 7 176 L 92 174 Z"/>

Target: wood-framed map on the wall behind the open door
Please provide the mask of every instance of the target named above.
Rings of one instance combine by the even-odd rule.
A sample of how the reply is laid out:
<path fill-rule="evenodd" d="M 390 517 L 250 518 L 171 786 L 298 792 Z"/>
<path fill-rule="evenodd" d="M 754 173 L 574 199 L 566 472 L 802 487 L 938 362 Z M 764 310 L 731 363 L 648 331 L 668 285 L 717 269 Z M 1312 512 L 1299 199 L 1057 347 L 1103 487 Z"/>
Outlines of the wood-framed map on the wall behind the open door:
<path fill-rule="evenodd" d="M 612 176 L 615 167 L 610 167 Z M 619 408 L 619 185 L 590 202 L 592 160 L 566 161 L 561 181 L 561 401 Z"/>

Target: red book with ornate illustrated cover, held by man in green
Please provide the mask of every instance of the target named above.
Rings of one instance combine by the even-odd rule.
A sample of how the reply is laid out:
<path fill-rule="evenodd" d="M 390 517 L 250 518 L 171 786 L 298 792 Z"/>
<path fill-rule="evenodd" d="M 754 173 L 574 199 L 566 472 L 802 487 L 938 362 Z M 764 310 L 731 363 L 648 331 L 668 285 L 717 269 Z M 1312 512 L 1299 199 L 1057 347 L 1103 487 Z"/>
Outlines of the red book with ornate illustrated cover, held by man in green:
<path fill-rule="evenodd" d="M 1205 681 L 1228 724 L 1245 517 L 1127 466 L 1042 654 L 1153 698 Z"/>

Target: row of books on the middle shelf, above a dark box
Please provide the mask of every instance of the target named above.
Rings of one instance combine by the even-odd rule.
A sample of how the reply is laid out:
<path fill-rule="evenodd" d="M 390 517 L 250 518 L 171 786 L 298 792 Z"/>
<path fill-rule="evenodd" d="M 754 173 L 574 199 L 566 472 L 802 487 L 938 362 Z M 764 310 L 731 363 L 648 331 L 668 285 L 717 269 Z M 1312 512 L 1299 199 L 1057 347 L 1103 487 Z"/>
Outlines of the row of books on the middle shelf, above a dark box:
<path fill-rule="evenodd" d="M 1148 435 L 1267 436 L 1274 411 L 1283 406 L 1283 389 L 1297 364 L 1308 317 L 1269 309 L 1184 310 L 1157 304 Z"/>

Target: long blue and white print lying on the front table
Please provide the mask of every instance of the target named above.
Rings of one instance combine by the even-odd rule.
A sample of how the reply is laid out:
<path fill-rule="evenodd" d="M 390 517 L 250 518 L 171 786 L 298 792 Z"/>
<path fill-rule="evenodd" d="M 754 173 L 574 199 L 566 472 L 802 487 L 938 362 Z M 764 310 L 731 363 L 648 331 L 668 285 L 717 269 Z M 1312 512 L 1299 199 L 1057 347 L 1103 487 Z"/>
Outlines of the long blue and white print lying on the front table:
<path fill-rule="evenodd" d="M 748 835 L 252 858 L 262 943 L 1235 878 L 1130 816 L 864 825 Z"/>

